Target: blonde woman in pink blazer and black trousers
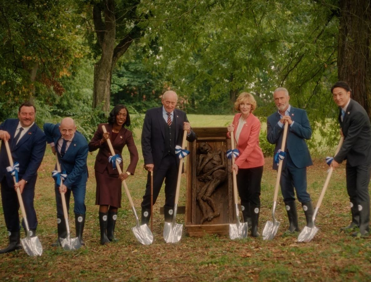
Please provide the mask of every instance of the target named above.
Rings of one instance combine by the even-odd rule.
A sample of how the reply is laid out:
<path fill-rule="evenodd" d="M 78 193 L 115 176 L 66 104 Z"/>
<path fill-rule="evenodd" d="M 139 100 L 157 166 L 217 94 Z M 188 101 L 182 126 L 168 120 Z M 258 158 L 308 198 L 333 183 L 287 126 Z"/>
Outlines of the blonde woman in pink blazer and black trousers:
<path fill-rule="evenodd" d="M 228 136 L 234 133 L 234 143 L 240 155 L 236 158 L 232 169 L 237 174 L 238 194 L 241 198 L 243 222 L 247 222 L 252 237 L 257 232 L 260 213 L 260 182 L 262 181 L 264 156 L 259 147 L 260 121 L 253 115 L 256 101 L 252 94 L 241 93 L 234 108 L 240 113 L 234 116 L 228 126 Z M 251 228 L 251 229 L 250 229 Z"/>

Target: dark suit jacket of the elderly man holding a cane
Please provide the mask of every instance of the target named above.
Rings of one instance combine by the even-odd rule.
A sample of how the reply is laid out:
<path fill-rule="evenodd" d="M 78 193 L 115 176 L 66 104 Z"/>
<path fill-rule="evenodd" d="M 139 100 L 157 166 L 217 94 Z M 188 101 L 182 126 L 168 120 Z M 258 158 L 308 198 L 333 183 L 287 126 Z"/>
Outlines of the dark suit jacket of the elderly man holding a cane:
<path fill-rule="evenodd" d="M 175 109 L 173 124 L 175 124 L 175 145 L 182 145 L 183 140 L 183 123 L 188 122 L 187 115 L 184 111 Z M 187 140 L 193 142 L 196 139 L 196 133 L 191 130 Z M 144 117 L 142 129 L 142 153 L 144 164 L 153 163 L 158 166 L 164 156 L 165 149 L 165 127 L 164 117 L 162 116 L 162 106 L 147 110 Z M 179 165 L 179 158 L 177 158 Z"/>

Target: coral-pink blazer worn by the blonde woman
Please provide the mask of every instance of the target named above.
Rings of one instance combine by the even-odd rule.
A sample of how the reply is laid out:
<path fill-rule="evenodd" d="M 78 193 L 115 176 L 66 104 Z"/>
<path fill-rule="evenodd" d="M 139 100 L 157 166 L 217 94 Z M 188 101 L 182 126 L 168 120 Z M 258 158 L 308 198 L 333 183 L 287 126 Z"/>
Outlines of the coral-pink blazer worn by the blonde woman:
<path fill-rule="evenodd" d="M 236 114 L 233 118 L 234 136 L 241 114 Z M 260 120 L 252 113 L 246 119 L 246 124 L 242 127 L 238 144 L 234 140 L 236 148 L 240 155 L 236 158 L 236 165 L 239 168 L 256 168 L 264 165 L 264 156 L 262 149 L 259 147 Z M 228 137 L 230 137 L 228 132 Z"/>

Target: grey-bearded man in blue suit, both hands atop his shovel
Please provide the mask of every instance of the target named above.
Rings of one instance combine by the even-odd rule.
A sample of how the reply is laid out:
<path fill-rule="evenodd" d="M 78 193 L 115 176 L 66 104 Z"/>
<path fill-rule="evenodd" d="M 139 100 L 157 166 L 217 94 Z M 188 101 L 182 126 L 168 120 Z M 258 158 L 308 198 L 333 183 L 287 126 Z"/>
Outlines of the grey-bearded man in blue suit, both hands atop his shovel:
<path fill-rule="evenodd" d="M 282 145 L 283 124 L 289 124 L 280 186 L 290 222 L 289 232 L 294 232 L 299 231 L 294 188 L 304 210 L 306 226 L 313 227 L 313 206 L 311 196 L 306 191 L 306 167 L 313 163 L 305 142 L 305 139 L 311 138 L 312 128 L 306 111 L 289 104 L 290 96 L 286 88 L 277 88 L 273 97 L 278 111 L 267 119 L 267 140 L 276 145 L 276 154 Z M 278 164 L 274 161 L 273 169 L 278 169 Z"/>

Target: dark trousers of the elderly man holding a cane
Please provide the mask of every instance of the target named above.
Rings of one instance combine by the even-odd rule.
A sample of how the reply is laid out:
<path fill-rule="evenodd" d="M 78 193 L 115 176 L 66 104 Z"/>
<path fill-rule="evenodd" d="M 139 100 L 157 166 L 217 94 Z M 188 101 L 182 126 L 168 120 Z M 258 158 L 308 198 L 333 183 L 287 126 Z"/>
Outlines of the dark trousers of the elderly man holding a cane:
<path fill-rule="evenodd" d="M 177 188 L 178 166 L 176 157 L 167 155 L 162 158 L 158 167 L 153 170 L 153 204 L 160 193 L 162 183 L 165 180 L 165 206 L 174 207 L 175 192 Z M 142 208 L 151 208 L 151 172 L 147 175 L 147 185 L 143 196 Z"/>

